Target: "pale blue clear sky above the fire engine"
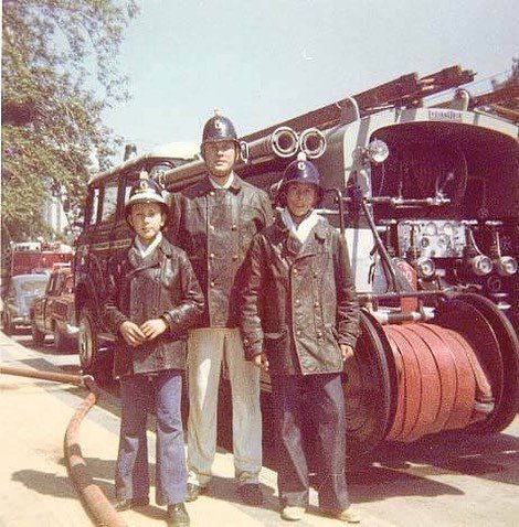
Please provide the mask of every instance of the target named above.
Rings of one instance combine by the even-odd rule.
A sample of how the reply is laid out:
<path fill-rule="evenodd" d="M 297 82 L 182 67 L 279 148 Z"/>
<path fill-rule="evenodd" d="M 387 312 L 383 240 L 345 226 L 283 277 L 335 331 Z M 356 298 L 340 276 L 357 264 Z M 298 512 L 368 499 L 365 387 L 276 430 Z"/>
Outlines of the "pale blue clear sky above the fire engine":
<path fill-rule="evenodd" d="M 119 55 L 131 100 L 104 116 L 139 153 L 200 142 L 219 108 L 240 136 L 401 75 L 460 65 L 469 90 L 519 57 L 517 0 L 140 0 Z"/>

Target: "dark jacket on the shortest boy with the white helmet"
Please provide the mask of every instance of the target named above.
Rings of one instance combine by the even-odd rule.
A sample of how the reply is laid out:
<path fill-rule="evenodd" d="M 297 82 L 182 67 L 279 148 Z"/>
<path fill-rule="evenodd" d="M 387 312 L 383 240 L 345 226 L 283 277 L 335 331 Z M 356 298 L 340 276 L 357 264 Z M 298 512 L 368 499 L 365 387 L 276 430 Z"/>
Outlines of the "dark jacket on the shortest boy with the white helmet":
<path fill-rule="evenodd" d="M 102 315 L 106 326 L 119 337 L 115 377 L 184 369 L 187 330 L 203 311 L 202 291 L 183 250 L 162 238 L 146 264 L 141 261 L 133 246 L 108 267 L 108 294 Z M 149 343 L 133 347 L 119 332 L 125 321 L 140 325 L 160 316 L 169 329 Z"/>

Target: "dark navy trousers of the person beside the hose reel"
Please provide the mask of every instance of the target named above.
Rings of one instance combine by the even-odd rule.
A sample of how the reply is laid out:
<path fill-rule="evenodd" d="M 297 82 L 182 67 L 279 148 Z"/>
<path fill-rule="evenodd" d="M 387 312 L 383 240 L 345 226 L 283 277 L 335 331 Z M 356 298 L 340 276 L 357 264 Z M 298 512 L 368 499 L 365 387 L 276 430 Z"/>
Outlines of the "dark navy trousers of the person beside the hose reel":
<path fill-rule="evenodd" d="M 276 426 L 277 486 L 282 506 L 307 507 L 308 449 L 315 440 L 319 507 L 340 512 L 350 505 L 346 484 L 345 396 L 339 374 L 272 376 Z M 309 427 L 315 438 L 307 438 Z"/>

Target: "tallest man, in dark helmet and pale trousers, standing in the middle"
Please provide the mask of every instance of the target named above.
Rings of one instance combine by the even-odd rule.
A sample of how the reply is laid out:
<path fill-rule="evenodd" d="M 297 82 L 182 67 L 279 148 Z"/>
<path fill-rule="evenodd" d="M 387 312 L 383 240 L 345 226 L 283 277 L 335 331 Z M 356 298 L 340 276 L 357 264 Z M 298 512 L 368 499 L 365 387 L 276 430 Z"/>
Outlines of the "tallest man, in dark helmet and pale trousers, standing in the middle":
<path fill-rule="evenodd" d="M 170 224 L 172 239 L 188 252 L 206 299 L 200 327 L 189 337 L 188 499 L 197 499 L 211 480 L 218 389 L 225 361 L 232 388 L 237 492 L 245 503 L 260 505 L 260 372 L 244 357 L 237 301 L 248 245 L 254 234 L 272 223 L 273 212 L 267 194 L 233 171 L 240 142 L 229 118 L 216 114 L 208 120 L 201 152 L 206 176 L 172 196 Z"/>

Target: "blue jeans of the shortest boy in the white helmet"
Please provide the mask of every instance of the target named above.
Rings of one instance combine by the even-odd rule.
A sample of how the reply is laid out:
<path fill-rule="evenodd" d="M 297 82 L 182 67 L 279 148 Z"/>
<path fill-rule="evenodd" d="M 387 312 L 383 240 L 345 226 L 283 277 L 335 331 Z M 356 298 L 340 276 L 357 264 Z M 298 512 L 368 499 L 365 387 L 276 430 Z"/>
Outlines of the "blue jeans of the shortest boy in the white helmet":
<path fill-rule="evenodd" d="M 157 411 L 156 502 L 169 505 L 186 501 L 188 472 L 180 413 L 181 392 L 182 373 L 178 369 L 120 380 L 123 408 L 115 474 L 118 499 L 144 498 L 149 494 L 146 428 L 151 397 Z"/>

